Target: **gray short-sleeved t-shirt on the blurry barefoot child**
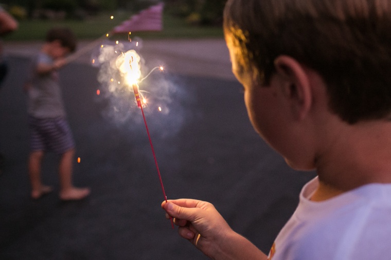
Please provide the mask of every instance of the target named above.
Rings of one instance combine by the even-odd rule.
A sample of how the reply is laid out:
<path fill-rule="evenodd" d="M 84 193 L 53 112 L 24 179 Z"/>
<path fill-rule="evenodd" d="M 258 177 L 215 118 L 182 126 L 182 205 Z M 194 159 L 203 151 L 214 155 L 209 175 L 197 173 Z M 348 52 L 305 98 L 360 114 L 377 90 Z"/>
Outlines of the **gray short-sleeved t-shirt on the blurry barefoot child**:
<path fill-rule="evenodd" d="M 62 93 L 57 71 L 39 75 L 38 64 L 52 64 L 53 59 L 45 53 L 35 57 L 32 67 L 28 91 L 27 112 L 37 118 L 65 117 Z"/>

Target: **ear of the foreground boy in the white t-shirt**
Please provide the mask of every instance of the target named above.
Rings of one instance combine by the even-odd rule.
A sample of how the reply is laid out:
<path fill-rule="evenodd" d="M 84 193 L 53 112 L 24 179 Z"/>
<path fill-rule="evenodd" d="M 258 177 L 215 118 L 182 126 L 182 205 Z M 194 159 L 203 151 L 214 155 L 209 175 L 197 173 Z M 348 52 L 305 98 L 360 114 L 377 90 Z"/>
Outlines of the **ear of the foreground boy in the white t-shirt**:
<path fill-rule="evenodd" d="M 296 119 L 303 120 L 312 105 L 312 90 L 307 70 L 296 59 L 280 55 L 274 60 L 276 74 L 282 81 L 283 92 L 289 99 Z"/>

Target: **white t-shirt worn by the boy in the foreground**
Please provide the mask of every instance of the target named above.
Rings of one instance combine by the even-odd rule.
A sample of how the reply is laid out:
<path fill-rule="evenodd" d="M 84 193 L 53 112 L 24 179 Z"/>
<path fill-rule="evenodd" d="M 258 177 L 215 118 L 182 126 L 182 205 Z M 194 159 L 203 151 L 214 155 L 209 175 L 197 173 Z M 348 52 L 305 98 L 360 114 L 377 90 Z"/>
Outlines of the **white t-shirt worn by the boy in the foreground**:
<path fill-rule="evenodd" d="M 278 234 L 271 260 L 391 259 L 391 184 L 368 184 L 323 202 L 310 201 L 312 179 Z"/>

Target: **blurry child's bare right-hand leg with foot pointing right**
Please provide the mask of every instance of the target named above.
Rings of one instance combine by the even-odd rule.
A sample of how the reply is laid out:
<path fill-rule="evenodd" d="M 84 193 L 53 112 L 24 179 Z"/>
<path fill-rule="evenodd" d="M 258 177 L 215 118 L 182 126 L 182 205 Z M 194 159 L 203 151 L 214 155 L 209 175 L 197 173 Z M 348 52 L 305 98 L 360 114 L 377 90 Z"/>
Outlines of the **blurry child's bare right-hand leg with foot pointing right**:
<path fill-rule="evenodd" d="M 60 198 L 63 201 L 82 199 L 90 194 L 88 188 L 76 188 L 72 184 L 72 166 L 75 150 L 68 150 L 61 155 L 59 165 Z"/>

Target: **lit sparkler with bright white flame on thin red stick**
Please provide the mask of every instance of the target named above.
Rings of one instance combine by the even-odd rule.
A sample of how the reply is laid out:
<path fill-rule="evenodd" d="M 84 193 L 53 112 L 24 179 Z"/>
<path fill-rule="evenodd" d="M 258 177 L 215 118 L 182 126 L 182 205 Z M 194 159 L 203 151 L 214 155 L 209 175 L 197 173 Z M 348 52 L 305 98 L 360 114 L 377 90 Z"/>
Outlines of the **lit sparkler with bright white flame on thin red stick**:
<path fill-rule="evenodd" d="M 167 202 L 167 195 L 164 190 L 162 176 L 160 174 L 159 166 L 157 164 L 155 150 L 153 149 L 151 135 L 149 133 L 147 120 L 146 120 L 145 114 L 144 114 L 143 103 L 141 102 L 141 98 L 144 99 L 144 97 L 141 96 L 141 94 L 139 92 L 139 87 L 138 87 L 138 83 L 142 82 L 145 78 L 147 78 L 152 73 L 152 71 L 154 71 L 155 69 L 160 69 L 163 71 L 163 67 L 153 68 L 147 74 L 147 76 L 145 76 L 139 80 L 139 78 L 141 77 L 139 62 L 140 62 L 140 56 L 137 54 L 137 52 L 135 50 L 130 50 L 130 51 L 126 52 L 125 54 L 122 53 L 122 55 L 118 56 L 118 58 L 116 60 L 116 65 L 117 65 L 119 71 L 121 73 L 123 73 L 123 75 L 125 76 L 125 79 L 126 79 L 127 83 L 129 84 L 129 86 L 132 86 L 134 97 L 135 97 L 136 103 L 137 103 L 137 107 L 140 108 L 141 114 L 143 115 L 144 124 L 145 124 L 145 128 L 147 130 L 149 144 L 151 145 L 153 159 L 155 161 L 155 166 L 156 166 L 157 174 L 159 176 L 160 185 L 162 187 L 164 199 Z M 144 102 L 144 104 L 145 104 L 145 102 Z M 174 223 L 173 223 L 172 217 L 170 217 L 170 221 L 171 221 L 171 227 L 174 228 Z"/>

